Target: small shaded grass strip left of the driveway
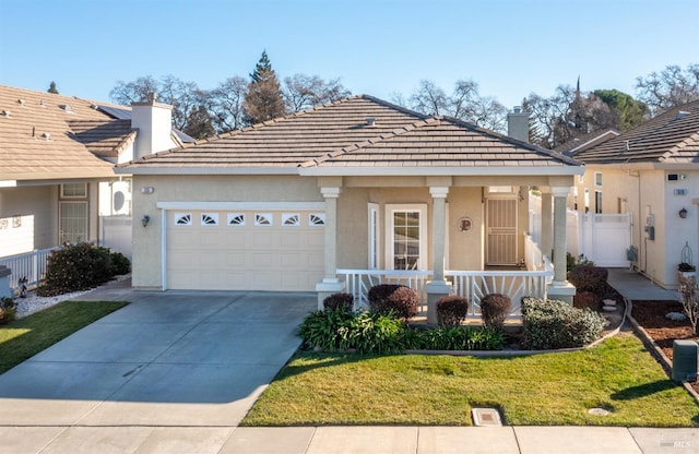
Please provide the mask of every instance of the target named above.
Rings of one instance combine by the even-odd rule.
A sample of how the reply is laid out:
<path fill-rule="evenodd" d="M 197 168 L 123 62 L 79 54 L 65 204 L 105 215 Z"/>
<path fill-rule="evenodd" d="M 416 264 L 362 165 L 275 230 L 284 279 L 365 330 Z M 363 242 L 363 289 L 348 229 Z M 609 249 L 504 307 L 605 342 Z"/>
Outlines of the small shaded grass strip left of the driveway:
<path fill-rule="evenodd" d="M 0 325 L 0 373 L 126 304 L 118 301 L 63 301 Z"/>

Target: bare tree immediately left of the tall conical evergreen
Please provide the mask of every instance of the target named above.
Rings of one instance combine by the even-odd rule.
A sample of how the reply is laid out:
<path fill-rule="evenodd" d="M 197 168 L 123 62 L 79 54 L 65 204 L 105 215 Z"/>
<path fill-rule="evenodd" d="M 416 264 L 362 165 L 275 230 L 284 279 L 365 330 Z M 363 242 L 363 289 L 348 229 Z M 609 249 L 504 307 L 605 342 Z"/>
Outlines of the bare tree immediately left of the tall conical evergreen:
<path fill-rule="evenodd" d="M 208 108 L 217 132 L 227 132 L 245 126 L 242 103 L 248 81 L 239 75 L 226 79 L 208 96 Z"/>

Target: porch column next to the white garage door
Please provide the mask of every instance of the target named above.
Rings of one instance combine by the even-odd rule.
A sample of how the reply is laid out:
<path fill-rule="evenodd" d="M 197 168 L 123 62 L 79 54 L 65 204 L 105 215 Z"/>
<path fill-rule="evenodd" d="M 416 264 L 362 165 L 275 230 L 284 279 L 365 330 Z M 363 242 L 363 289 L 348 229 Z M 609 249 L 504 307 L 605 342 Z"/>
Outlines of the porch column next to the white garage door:
<path fill-rule="evenodd" d="M 325 199 L 325 254 L 323 279 L 316 284 L 319 310 L 323 308 L 325 297 L 344 289 L 344 283 L 337 279 L 337 198 L 341 189 L 322 187 L 320 192 Z"/>

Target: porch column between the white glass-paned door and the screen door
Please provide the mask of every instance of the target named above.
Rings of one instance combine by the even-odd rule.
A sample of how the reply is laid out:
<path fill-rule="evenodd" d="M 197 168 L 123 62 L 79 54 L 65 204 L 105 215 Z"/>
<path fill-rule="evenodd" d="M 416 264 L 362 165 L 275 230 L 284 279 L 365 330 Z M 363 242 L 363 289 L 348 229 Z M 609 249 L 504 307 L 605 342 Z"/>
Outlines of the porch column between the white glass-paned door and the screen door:
<path fill-rule="evenodd" d="M 433 195 L 433 280 L 427 284 L 427 324 L 437 324 L 437 300 L 451 294 L 445 280 L 445 235 L 447 228 L 448 187 L 430 187 Z"/>

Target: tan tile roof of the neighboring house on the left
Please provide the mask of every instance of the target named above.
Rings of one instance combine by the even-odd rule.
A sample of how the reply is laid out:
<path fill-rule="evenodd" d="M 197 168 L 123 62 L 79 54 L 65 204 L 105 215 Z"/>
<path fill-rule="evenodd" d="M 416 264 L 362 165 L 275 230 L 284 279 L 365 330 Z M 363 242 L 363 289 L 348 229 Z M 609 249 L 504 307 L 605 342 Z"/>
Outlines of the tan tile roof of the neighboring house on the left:
<path fill-rule="evenodd" d="M 130 128 L 90 100 L 0 85 L 0 180 L 106 178 Z"/>

